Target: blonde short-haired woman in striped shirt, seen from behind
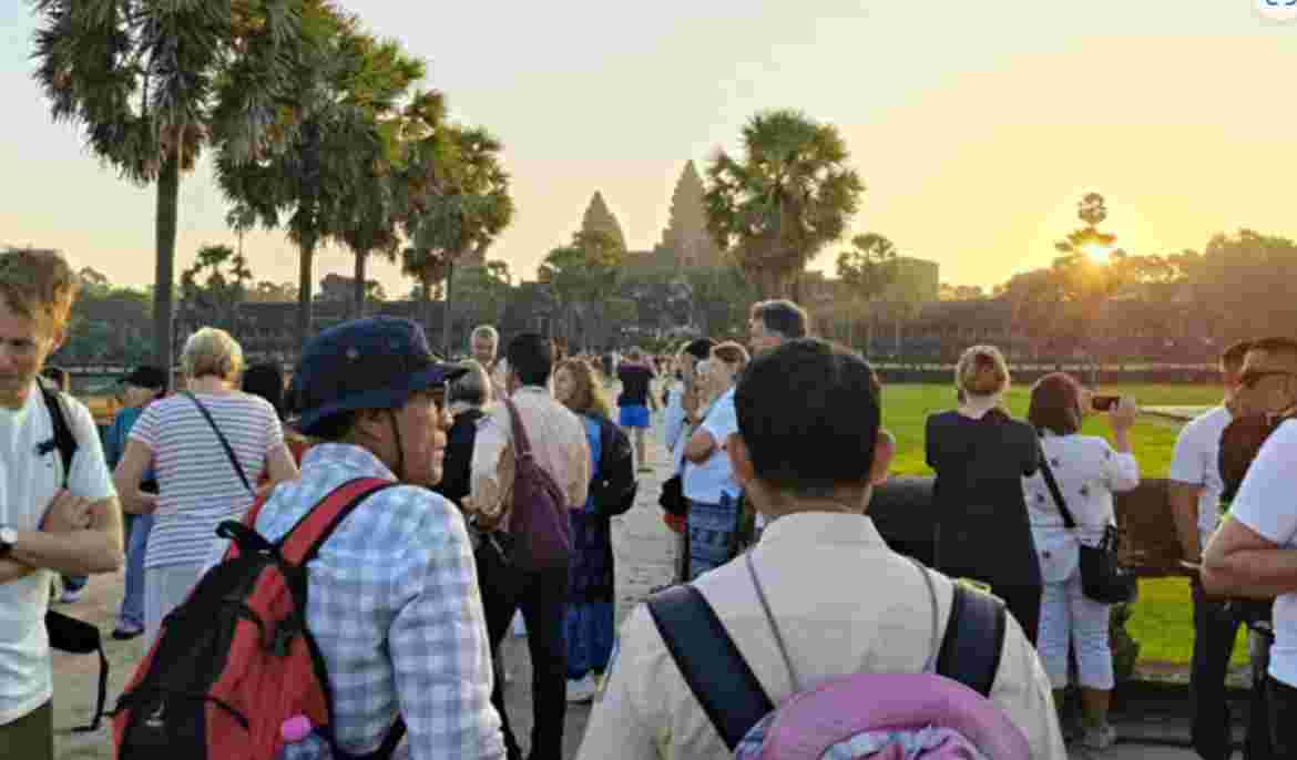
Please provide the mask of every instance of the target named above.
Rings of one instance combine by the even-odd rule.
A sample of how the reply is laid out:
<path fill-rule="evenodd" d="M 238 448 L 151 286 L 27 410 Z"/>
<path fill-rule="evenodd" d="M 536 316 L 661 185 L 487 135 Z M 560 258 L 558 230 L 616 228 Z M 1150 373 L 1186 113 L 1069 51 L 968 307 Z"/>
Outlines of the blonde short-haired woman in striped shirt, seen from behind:
<path fill-rule="evenodd" d="M 144 559 L 145 646 L 198 582 L 219 545 L 217 525 L 241 520 L 252 506 L 252 484 L 263 472 L 271 486 L 297 477 L 275 407 L 236 389 L 243 364 L 243 348 L 226 331 L 193 333 L 180 357 L 185 392 L 144 410 L 113 473 L 126 511 L 153 515 Z M 140 492 L 150 466 L 157 494 Z"/>

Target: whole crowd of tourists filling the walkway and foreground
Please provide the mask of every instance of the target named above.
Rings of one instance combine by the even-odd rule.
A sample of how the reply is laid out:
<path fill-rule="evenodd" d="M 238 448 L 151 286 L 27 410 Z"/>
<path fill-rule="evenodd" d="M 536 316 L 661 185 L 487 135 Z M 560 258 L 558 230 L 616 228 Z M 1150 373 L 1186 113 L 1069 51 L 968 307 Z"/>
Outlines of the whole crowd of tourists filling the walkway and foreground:
<path fill-rule="evenodd" d="M 244 367 L 232 336 L 204 328 L 184 345 L 182 388 L 154 367 L 123 377 L 101 440 L 66 377 L 38 381 L 75 281 L 57 254 L 0 254 L 0 757 L 53 757 L 52 586 L 75 600 L 87 576 L 125 564 L 113 638 L 144 637 L 143 673 L 160 651 L 180 656 L 200 581 L 240 556 L 243 533 L 218 527 L 245 523 L 279 551 L 363 482 L 390 488 L 349 505 L 305 564 L 301 623 L 329 724 L 284 722 L 279 756 L 558 759 L 568 704 L 590 700 L 589 759 L 781 756 L 789 726 L 813 733 L 815 716 L 835 715 L 838 734 L 818 747 L 843 757 L 964 747 L 1061 759 L 1067 742 L 1102 751 L 1118 739 L 1113 599 L 1092 586 L 1089 559 L 1114 534 L 1115 494 L 1140 484 L 1134 398 L 1056 372 L 1014 419 L 1005 358 L 968 349 L 957 405 L 925 431 L 938 515 L 925 567 L 868 516 L 898 454 L 879 380 L 860 354 L 809 337 L 792 302 L 756 303 L 747 345 L 695 338 L 667 357 L 569 353 L 537 333 L 502 346 L 481 326 L 449 361 L 412 322 L 376 316 L 313 337 L 291 379 Z M 1231 346 L 1222 374 L 1226 399 L 1184 427 L 1169 479 L 1166 529 L 1193 575 L 1193 743 L 1206 760 L 1232 748 L 1223 681 L 1249 623 L 1268 663 L 1249 746 L 1272 752 L 1252 756 L 1291 757 L 1297 341 Z M 669 457 L 651 495 L 677 537 L 676 577 L 619 632 L 613 519 L 652 471 L 659 409 Z M 1109 437 L 1082 432 L 1093 415 Z M 1233 482 L 1222 441 L 1250 419 L 1267 427 Z M 60 425 L 75 444 L 65 463 Z M 1232 519 L 1220 520 L 1226 499 Z M 1275 599 L 1272 624 L 1239 599 Z M 525 739 L 499 667 L 519 625 L 532 661 Z M 1060 717 L 1069 686 L 1075 725 Z M 935 694 L 944 712 L 921 699 Z M 167 698 L 130 695 L 122 757 L 145 713 L 156 735 L 182 735 Z"/>

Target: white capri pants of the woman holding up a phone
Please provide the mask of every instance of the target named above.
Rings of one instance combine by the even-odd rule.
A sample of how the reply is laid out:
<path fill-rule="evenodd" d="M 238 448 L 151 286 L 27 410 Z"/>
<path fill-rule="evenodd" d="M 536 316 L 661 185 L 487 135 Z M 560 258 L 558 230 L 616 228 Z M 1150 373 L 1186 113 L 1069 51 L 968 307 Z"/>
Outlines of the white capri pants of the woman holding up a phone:
<path fill-rule="evenodd" d="M 1113 689 L 1113 651 L 1108 643 L 1109 604 L 1086 598 L 1078 567 L 1066 581 L 1045 584 L 1040 595 L 1036 648 L 1049 683 L 1067 686 L 1069 645 L 1077 652 L 1077 676 L 1084 689 Z"/>

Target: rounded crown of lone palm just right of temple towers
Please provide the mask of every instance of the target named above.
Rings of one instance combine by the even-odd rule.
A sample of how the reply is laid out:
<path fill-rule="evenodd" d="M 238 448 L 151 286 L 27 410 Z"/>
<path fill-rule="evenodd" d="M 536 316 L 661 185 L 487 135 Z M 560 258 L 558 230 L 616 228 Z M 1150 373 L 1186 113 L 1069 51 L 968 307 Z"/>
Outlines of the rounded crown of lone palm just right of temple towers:
<path fill-rule="evenodd" d="M 842 236 L 864 184 L 837 127 L 798 112 L 756 114 L 742 140 L 742 158 L 720 150 L 707 170 L 707 228 L 763 297 L 785 296 Z"/>

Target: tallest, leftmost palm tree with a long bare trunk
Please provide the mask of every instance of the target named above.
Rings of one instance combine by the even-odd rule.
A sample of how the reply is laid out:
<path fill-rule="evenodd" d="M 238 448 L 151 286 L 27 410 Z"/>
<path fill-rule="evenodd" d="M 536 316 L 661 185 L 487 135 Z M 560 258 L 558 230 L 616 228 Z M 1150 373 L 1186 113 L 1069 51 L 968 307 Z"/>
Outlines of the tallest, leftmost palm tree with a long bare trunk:
<path fill-rule="evenodd" d="M 173 364 L 180 175 L 204 145 L 232 165 L 274 148 L 276 121 L 320 0 L 34 0 L 35 78 L 56 121 L 91 150 L 157 185 L 154 361 Z"/>

